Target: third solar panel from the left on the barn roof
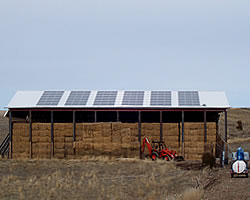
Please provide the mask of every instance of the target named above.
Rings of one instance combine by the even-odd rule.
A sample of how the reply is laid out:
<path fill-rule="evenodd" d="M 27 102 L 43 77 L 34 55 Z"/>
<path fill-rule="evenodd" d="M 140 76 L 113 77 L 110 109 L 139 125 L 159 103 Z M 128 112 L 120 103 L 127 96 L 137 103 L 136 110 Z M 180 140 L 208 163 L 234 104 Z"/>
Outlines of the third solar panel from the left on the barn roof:
<path fill-rule="evenodd" d="M 98 91 L 95 97 L 95 106 L 115 105 L 118 91 Z"/>

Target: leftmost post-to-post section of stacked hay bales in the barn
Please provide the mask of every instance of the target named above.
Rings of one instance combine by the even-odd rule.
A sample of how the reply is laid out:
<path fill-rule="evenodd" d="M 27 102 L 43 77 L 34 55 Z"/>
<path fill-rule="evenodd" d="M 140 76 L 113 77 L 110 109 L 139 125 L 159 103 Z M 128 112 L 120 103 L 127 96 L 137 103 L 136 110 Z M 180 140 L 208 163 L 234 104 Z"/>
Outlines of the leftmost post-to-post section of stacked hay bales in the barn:
<path fill-rule="evenodd" d="M 12 157 L 13 158 L 29 158 L 29 124 L 14 123 L 12 133 Z"/>

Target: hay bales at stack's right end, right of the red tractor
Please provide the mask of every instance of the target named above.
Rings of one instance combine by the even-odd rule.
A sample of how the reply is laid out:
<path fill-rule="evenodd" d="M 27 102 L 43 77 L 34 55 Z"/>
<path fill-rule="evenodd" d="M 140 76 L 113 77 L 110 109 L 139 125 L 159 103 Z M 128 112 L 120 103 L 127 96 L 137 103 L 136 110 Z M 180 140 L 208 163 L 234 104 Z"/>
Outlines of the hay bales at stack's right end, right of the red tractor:
<path fill-rule="evenodd" d="M 207 123 L 207 144 L 204 143 L 204 123 L 185 123 L 184 125 L 184 152 L 187 160 L 201 160 L 206 151 L 215 153 L 216 123 Z M 209 150 L 210 148 L 212 150 Z M 206 148 L 207 147 L 207 148 Z"/>

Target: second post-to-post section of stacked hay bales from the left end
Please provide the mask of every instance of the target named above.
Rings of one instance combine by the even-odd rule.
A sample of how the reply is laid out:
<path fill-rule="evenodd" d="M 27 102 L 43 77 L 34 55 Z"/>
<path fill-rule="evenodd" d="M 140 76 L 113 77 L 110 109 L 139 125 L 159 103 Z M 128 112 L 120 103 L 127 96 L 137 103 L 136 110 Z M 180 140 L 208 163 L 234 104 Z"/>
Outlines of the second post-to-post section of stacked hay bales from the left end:
<path fill-rule="evenodd" d="M 32 158 L 51 157 L 50 123 L 32 124 Z"/>

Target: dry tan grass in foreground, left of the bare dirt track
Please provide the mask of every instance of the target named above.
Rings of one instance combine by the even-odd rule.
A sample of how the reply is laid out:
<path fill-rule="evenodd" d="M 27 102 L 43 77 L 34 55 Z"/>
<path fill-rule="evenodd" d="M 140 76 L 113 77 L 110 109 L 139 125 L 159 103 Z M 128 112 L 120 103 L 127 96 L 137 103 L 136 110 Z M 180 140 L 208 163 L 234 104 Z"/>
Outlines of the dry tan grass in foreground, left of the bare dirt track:
<path fill-rule="evenodd" d="M 196 186 L 199 171 L 171 162 L 0 160 L 0 199 L 166 199 Z"/>

